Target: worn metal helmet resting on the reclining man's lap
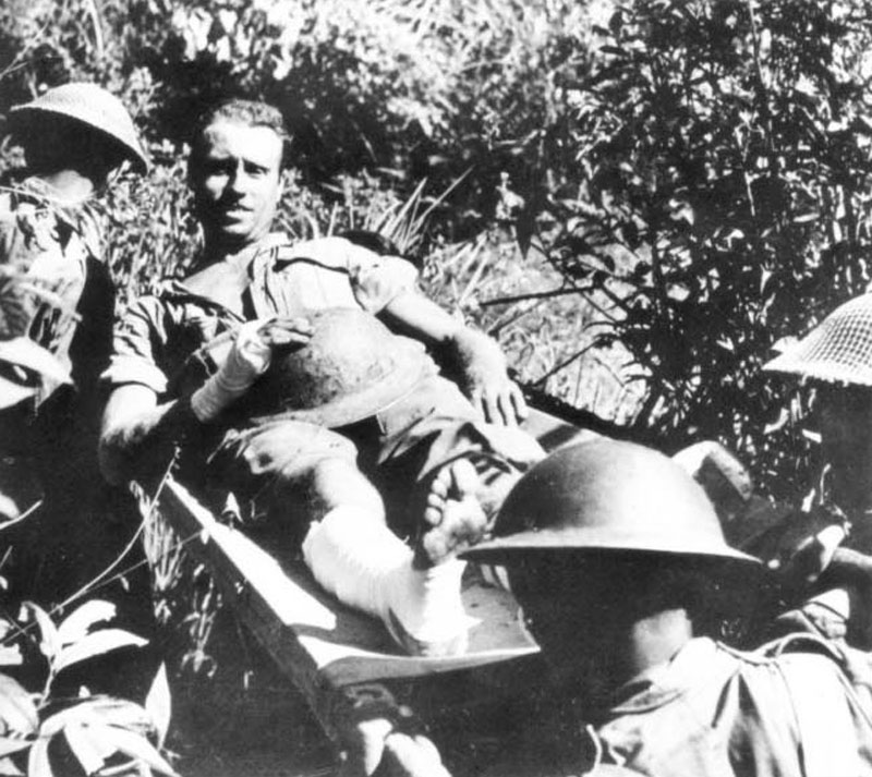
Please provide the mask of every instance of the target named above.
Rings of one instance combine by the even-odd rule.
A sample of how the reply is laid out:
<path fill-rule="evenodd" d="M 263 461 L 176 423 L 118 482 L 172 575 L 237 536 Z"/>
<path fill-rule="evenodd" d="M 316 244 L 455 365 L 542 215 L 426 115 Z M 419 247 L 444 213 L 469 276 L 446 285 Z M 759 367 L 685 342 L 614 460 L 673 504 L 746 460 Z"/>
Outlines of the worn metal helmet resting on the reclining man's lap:
<path fill-rule="evenodd" d="M 393 335 L 370 313 L 334 307 L 302 315 L 312 323 L 312 339 L 274 355 L 253 389 L 255 413 L 347 426 L 384 410 L 435 372 L 420 343 Z"/>

